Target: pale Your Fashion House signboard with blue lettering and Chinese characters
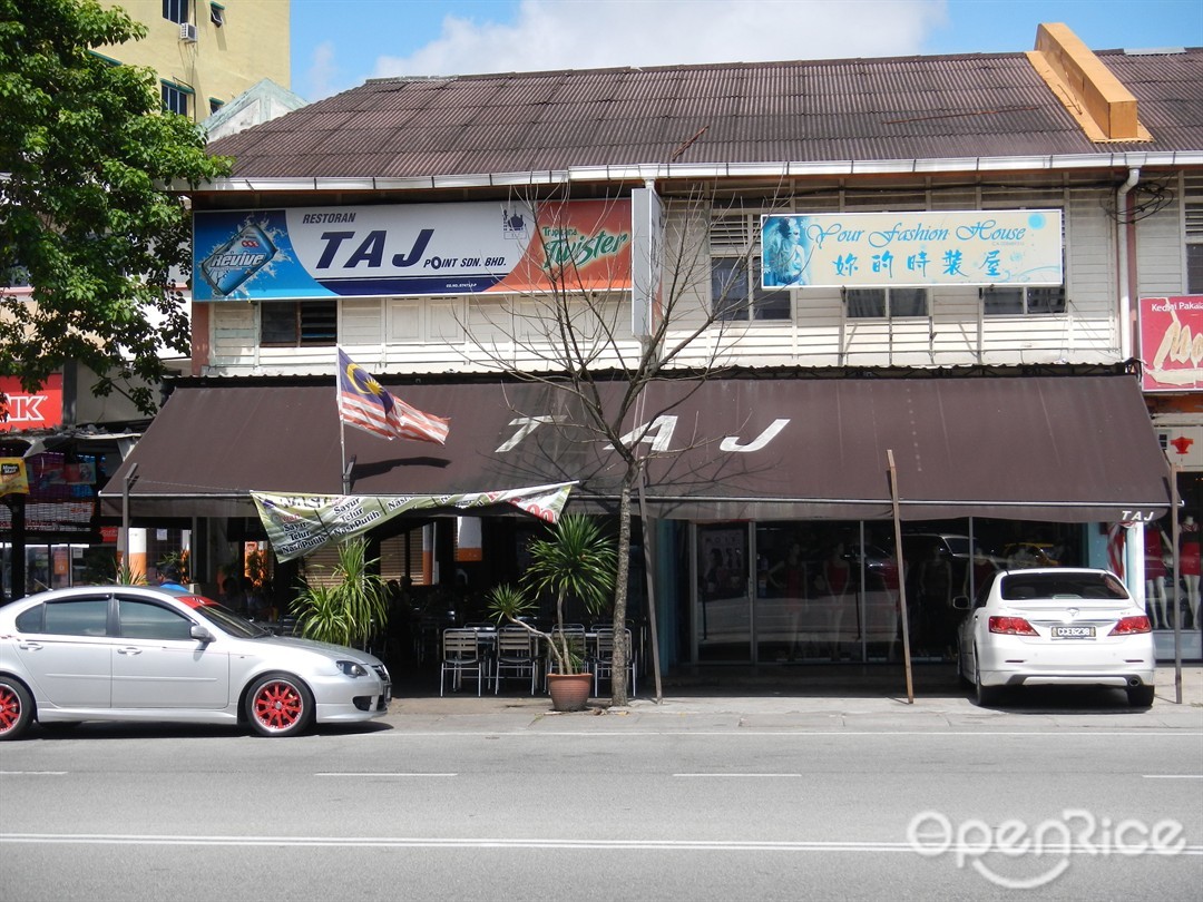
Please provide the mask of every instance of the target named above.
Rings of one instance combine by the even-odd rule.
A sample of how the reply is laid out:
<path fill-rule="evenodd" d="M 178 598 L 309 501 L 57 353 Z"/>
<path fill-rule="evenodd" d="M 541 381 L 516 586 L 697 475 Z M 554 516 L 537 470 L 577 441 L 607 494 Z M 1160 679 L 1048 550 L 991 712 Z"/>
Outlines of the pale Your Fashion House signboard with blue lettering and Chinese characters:
<path fill-rule="evenodd" d="M 769 287 L 1060 285 L 1061 210 L 761 216 Z"/>

